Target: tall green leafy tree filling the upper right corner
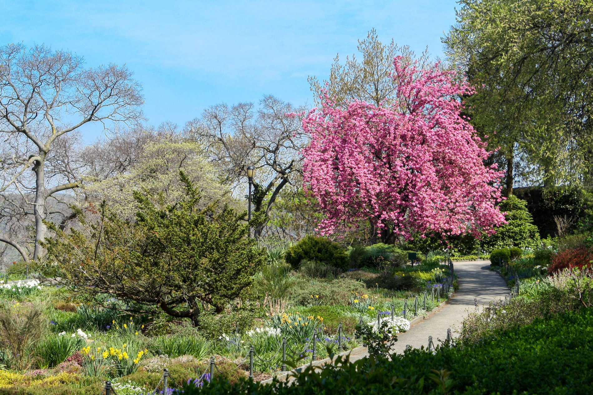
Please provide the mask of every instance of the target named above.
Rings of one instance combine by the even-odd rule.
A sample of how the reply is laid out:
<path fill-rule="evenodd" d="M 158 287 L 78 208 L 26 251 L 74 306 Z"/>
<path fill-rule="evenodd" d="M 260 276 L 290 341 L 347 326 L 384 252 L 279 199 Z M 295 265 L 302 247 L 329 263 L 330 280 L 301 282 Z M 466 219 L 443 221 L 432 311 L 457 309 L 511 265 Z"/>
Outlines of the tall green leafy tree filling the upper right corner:
<path fill-rule="evenodd" d="M 443 39 L 451 63 L 476 87 L 476 129 L 500 147 L 506 192 L 515 179 L 581 184 L 590 178 L 593 3 L 461 0 Z M 519 168 L 519 165 L 522 165 Z"/>

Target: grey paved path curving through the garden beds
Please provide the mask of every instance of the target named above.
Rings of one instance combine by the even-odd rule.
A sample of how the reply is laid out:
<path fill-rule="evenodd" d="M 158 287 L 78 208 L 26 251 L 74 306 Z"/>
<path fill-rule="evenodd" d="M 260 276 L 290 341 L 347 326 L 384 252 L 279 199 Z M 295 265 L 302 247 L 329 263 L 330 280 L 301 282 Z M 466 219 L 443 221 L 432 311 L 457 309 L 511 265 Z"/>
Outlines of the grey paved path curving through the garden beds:
<path fill-rule="evenodd" d="M 447 337 L 448 328 L 451 328 L 455 337 L 461 328 L 463 318 L 476 308 L 474 298 L 477 299 L 480 308 L 488 305 L 490 301 L 504 300 L 509 289 L 498 273 L 489 270 L 489 265 L 490 261 L 487 260 L 454 263 L 455 273 L 459 278 L 459 290 L 440 311 L 415 324 L 408 332 L 398 334 L 393 351 L 402 353 L 406 345 L 412 348 L 426 347 L 428 336 L 432 336 L 433 343 L 438 345 L 438 339 L 444 340 Z M 367 355 L 366 350 L 352 354 L 350 361 Z"/>

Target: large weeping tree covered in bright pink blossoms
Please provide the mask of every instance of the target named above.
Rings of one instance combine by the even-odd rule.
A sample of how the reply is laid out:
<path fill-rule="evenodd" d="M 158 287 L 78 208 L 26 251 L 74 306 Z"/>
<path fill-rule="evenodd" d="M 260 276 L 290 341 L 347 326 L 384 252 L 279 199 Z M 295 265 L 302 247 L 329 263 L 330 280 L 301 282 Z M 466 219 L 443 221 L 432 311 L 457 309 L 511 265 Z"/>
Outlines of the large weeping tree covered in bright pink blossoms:
<path fill-rule="evenodd" d="M 484 165 L 486 144 L 461 115 L 459 98 L 472 90 L 456 77 L 395 58 L 393 106 L 326 95 L 305 117 L 304 184 L 324 214 L 322 234 L 367 220 L 393 243 L 417 233 L 477 236 L 504 222 L 501 174 Z"/>

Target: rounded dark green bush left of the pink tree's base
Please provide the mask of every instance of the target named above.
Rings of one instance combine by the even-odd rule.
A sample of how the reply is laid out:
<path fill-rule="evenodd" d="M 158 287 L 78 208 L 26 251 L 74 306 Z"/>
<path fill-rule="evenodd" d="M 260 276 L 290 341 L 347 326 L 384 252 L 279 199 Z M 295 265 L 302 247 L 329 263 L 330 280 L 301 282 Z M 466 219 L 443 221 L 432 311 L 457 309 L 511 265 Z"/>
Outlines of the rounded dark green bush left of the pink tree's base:
<path fill-rule="evenodd" d="M 302 260 L 315 260 L 338 269 L 348 269 L 346 250 L 327 237 L 308 235 L 286 251 L 286 262 L 299 267 Z"/>

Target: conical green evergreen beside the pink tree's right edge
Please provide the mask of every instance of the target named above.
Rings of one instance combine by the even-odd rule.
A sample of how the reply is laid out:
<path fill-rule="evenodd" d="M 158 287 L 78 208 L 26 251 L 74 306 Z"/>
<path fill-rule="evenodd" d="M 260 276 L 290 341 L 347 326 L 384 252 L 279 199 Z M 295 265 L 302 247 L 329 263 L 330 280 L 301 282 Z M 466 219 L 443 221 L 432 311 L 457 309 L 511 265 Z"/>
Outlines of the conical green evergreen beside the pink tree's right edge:
<path fill-rule="evenodd" d="M 484 237 L 482 246 L 486 249 L 519 247 L 535 248 L 540 243 L 540 233 L 527 211 L 527 202 L 511 195 L 500 203 L 500 211 L 505 213 L 507 224 L 496 228 L 496 233 Z"/>

